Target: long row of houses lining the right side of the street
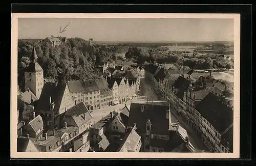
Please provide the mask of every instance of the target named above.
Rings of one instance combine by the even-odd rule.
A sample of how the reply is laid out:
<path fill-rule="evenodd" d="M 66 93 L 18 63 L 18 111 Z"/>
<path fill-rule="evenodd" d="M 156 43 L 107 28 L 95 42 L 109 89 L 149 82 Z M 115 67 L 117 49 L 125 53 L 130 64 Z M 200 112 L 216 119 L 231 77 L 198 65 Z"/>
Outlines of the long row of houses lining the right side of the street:
<path fill-rule="evenodd" d="M 193 70 L 164 70 L 145 66 L 145 78 L 167 100 L 172 110 L 183 117 L 212 152 L 232 152 L 233 107 L 225 99 L 227 87 L 200 76 Z"/>

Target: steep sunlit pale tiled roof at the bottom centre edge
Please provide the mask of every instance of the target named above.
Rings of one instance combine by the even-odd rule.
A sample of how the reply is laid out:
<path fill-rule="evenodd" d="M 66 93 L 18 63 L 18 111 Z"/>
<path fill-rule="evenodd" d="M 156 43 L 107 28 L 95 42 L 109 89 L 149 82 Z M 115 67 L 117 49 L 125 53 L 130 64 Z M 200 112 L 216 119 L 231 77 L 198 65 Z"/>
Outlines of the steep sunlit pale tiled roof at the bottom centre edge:
<path fill-rule="evenodd" d="M 129 152 L 130 150 L 136 151 L 135 148 L 137 148 L 137 145 L 140 139 L 141 139 L 141 136 L 136 132 L 135 127 L 133 127 L 133 129 L 131 130 L 130 134 L 127 136 L 127 139 L 125 140 L 119 152 Z"/>

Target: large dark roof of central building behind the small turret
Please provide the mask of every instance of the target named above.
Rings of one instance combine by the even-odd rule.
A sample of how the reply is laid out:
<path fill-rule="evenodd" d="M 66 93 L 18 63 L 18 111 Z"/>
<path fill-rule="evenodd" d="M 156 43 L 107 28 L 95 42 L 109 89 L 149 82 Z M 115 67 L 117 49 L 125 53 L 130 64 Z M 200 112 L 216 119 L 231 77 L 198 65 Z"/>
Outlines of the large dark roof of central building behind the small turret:
<path fill-rule="evenodd" d="M 169 106 L 158 105 L 158 103 L 143 103 L 144 112 L 141 112 L 141 103 L 132 103 L 130 106 L 130 115 L 128 126 L 133 126 L 136 123 L 137 132 L 145 133 L 146 122 L 149 119 L 152 124 L 153 134 L 168 134 L 169 120 L 166 119 L 166 110 Z"/>

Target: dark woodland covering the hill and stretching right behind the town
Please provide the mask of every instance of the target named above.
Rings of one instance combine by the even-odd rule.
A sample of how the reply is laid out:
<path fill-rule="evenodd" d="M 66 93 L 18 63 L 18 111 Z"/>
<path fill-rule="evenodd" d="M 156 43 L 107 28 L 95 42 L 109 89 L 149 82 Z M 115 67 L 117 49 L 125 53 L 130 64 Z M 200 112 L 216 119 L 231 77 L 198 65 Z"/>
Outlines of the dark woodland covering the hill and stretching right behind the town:
<path fill-rule="evenodd" d="M 190 44 L 202 45 L 202 43 Z M 208 46 L 209 43 L 205 45 Z M 218 42 L 215 46 L 224 47 L 223 43 Z M 181 55 L 182 52 L 169 50 L 164 43 L 105 45 L 96 42 L 90 45 L 89 41 L 81 38 L 69 38 L 66 43 L 53 47 L 51 43 L 42 39 L 18 39 L 18 85 L 20 88 L 24 87 L 24 71 L 30 64 L 33 48 L 36 49 L 38 63 L 44 69 L 44 77 L 59 82 L 99 77 L 99 70 L 94 69 L 99 62 L 116 59 L 125 61 L 122 57 L 116 56 L 117 53 L 125 53 L 127 61 L 138 64 L 157 60 L 158 63 L 174 63 L 180 69 L 232 68 L 230 64 L 212 60 L 208 56 L 184 58 Z"/>

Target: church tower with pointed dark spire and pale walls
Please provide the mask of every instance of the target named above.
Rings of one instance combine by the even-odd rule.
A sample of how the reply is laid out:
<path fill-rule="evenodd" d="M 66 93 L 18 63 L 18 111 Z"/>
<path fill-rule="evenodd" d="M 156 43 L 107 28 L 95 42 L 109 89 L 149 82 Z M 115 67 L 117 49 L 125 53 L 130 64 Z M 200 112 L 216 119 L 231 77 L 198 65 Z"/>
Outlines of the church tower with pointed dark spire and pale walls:
<path fill-rule="evenodd" d="M 38 57 L 34 48 L 31 63 L 25 70 L 25 89 L 30 89 L 39 99 L 42 87 L 44 87 L 44 70 L 37 63 L 37 59 Z"/>

